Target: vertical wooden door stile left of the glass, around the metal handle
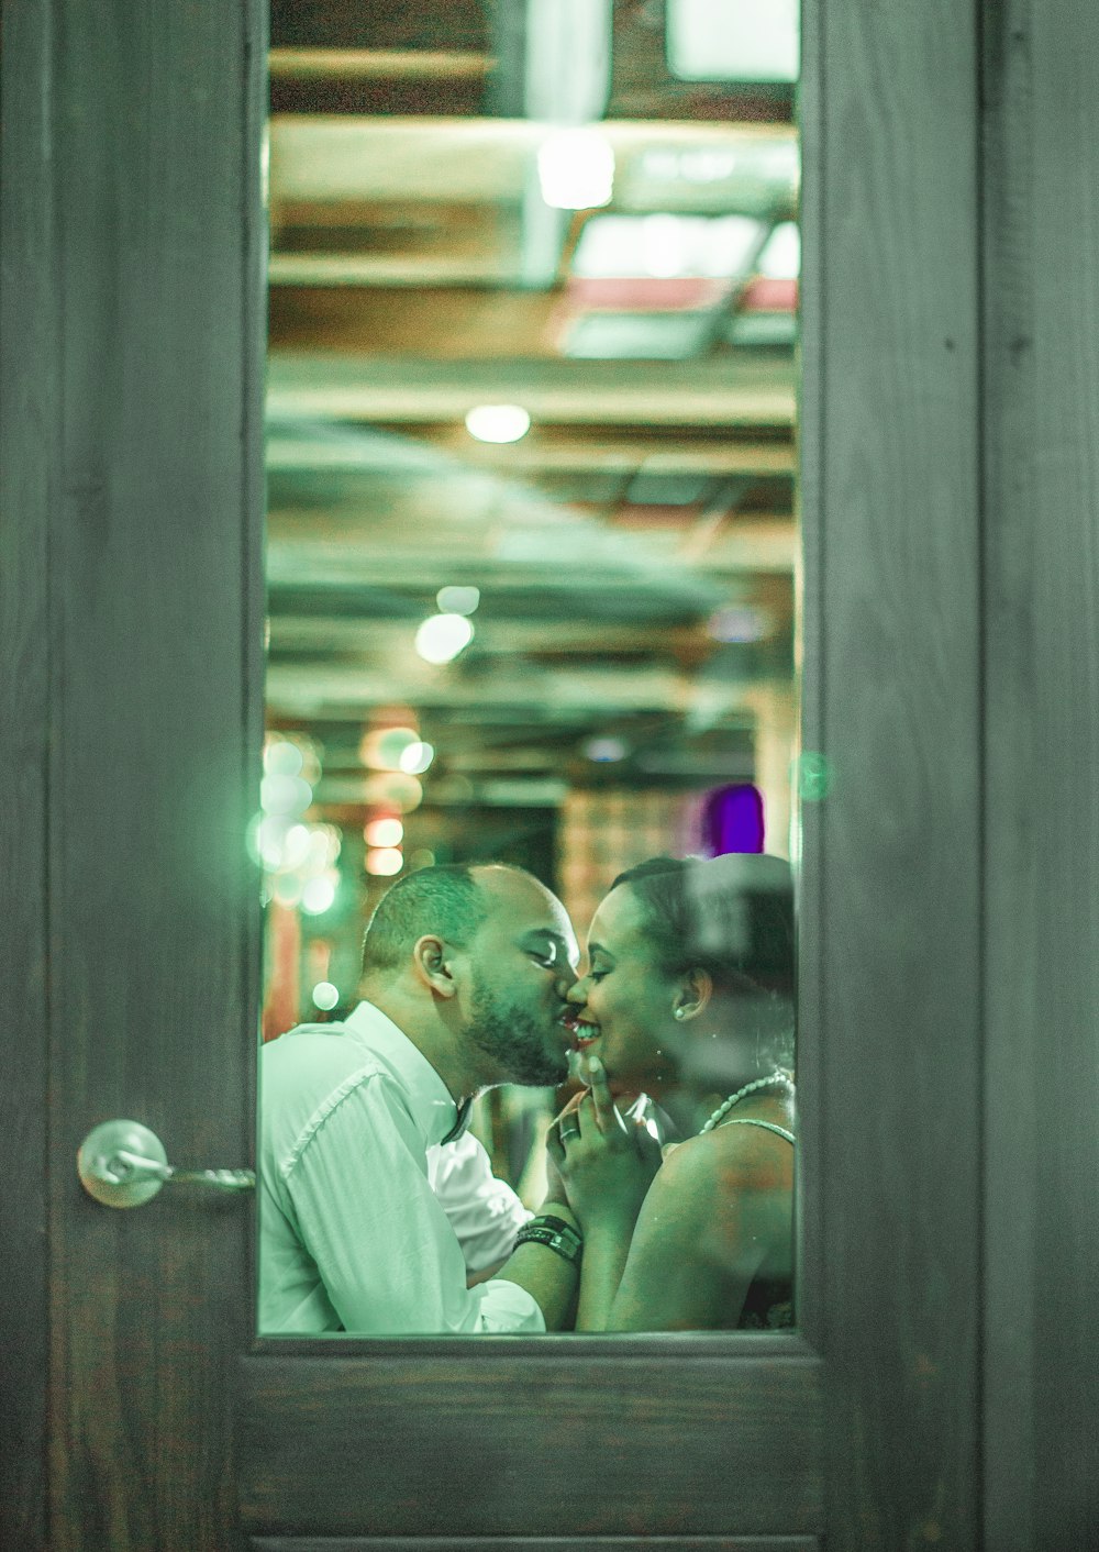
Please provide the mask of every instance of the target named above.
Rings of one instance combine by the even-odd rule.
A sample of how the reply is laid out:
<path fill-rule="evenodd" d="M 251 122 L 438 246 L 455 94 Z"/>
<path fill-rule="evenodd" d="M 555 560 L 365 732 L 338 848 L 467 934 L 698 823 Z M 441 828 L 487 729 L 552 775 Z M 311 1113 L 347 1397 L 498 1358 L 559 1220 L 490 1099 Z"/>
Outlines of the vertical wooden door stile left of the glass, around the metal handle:
<path fill-rule="evenodd" d="M 75 1156 L 115 1116 L 179 1166 L 250 1148 L 261 28 L 256 6 L 48 9 L 48 1546 L 224 1552 L 248 1204 L 112 1212 Z"/>

